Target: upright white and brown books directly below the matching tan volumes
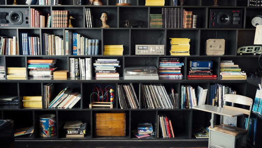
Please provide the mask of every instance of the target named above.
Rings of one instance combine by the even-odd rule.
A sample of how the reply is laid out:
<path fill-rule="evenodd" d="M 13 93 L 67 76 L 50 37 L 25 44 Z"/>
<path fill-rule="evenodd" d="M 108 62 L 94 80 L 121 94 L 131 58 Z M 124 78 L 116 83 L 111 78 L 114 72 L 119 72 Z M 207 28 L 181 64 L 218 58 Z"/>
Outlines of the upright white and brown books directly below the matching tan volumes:
<path fill-rule="evenodd" d="M 45 55 L 65 55 L 62 36 L 43 33 L 43 51 Z"/>

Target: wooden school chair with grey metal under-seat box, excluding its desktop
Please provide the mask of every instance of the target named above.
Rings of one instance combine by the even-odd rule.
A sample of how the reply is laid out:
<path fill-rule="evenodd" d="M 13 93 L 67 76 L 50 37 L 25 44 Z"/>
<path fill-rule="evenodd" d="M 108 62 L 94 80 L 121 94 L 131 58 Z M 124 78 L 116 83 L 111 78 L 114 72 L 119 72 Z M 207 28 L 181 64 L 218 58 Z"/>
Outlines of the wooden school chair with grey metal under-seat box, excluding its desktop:
<path fill-rule="evenodd" d="M 237 94 L 225 94 L 223 101 L 250 106 L 249 110 L 246 110 L 242 108 L 223 105 L 223 108 L 240 111 L 243 114 L 248 115 L 249 122 L 253 103 L 253 100 L 251 98 Z M 208 129 L 209 148 L 242 148 L 246 147 L 247 145 L 247 129 L 242 129 L 225 124 L 215 125 L 214 128 L 211 128 L 210 126 Z"/>

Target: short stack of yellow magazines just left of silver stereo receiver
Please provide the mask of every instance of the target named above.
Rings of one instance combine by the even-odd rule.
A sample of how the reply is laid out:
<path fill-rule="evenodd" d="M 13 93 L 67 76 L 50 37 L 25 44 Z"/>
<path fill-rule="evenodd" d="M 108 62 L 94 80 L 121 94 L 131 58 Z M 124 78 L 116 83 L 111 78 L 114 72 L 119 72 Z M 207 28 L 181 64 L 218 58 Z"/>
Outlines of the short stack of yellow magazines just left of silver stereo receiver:
<path fill-rule="evenodd" d="M 123 55 L 124 45 L 104 45 L 104 55 Z"/>

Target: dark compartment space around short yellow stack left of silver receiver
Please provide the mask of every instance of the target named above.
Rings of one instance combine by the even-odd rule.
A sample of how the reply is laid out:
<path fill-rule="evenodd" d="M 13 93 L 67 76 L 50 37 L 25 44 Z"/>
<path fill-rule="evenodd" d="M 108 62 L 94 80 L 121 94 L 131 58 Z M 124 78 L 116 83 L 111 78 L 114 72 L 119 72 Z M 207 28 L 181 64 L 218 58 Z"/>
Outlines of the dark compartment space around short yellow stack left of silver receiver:
<path fill-rule="evenodd" d="M 124 45 L 123 55 L 129 55 L 129 42 L 129 30 L 103 29 L 102 54 L 104 54 L 104 45 Z"/>

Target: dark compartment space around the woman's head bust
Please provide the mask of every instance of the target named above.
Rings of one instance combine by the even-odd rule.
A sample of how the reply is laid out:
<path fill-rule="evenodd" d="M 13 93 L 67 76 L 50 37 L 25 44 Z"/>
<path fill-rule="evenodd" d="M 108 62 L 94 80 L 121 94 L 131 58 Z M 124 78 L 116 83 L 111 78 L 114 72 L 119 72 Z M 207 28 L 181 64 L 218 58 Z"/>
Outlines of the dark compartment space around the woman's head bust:
<path fill-rule="evenodd" d="M 101 20 L 100 20 L 100 14 L 102 12 L 106 12 L 108 14 L 108 20 L 106 22 L 107 25 L 109 25 L 110 28 L 117 28 L 117 7 L 85 7 L 90 8 L 91 15 L 93 16 L 93 27 L 100 28 L 102 26 Z M 85 21 L 85 27 L 86 25 L 86 16 L 84 16 Z"/>

